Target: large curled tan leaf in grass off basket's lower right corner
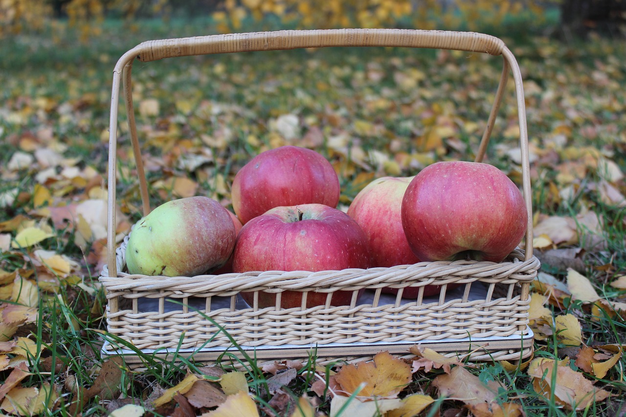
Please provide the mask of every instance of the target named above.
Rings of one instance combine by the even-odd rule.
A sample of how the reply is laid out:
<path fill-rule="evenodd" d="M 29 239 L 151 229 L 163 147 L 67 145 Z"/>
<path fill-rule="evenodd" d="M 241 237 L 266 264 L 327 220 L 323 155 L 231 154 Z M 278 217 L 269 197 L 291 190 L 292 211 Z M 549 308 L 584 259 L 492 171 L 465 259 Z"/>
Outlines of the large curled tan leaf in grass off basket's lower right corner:
<path fill-rule="evenodd" d="M 554 371 L 557 373 L 556 385 L 552 386 Z M 534 359 L 528 367 L 528 375 L 534 378 L 535 391 L 546 400 L 554 393 L 557 403 L 569 409 L 585 409 L 592 401 L 602 401 L 610 395 L 568 366 L 556 366 L 555 369 L 555 361 L 550 359 Z"/>

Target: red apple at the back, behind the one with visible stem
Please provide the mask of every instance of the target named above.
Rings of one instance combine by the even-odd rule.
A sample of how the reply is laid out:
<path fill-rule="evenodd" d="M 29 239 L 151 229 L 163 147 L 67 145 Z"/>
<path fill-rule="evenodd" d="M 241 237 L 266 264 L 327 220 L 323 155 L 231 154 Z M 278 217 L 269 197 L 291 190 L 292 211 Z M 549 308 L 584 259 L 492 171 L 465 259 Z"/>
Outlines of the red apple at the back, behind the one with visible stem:
<path fill-rule="evenodd" d="M 330 162 L 307 148 L 259 153 L 233 178 L 232 205 L 242 224 L 274 207 L 319 203 L 337 207 L 339 178 Z"/>

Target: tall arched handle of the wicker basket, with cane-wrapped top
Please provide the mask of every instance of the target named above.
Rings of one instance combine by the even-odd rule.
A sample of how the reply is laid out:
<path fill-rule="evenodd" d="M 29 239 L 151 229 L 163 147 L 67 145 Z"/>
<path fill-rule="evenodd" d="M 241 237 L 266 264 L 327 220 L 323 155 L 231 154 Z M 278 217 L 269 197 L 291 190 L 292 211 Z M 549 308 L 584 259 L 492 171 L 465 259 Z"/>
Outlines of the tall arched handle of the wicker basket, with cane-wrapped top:
<path fill-rule="evenodd" d="M 120 84 L 124 85 L 124 98 L 128 125 L 137 172 L 140 180 L 140 193 L 144 215 L 150 212 L 146 178 L 143 174 L 140 147 L 136 133 L 135 116 L 131 95 L 131 68 L 134 59 L 143 62 L 155 61 L 176 56 L 192 56 L 202 54 L 236 53 L 247 51 L 270 51 L 297 48 L 323 48 L 329 46 L 389 46 L 406 48 L 453 49 L 458 51 L 480 52 L 491 55 L 502 55 L 504 68 L 495 101 L 481 140 L 476 161 L 480 162 L 493 128 L 496 113 L 500 107 L 505 90 L 508 70 L 513 73 L 515 93 L 520 123 L 520 148 L 522 167 L 522 192 L 528 212 L 526 229 L 526 260 L 533 253 L 533 216 L 530 189 L 530 163 L 528 157 L 528 131 L 526 130 L 526 107 L 521 81 L 521 72 L 515 56 L 506 48 L 501 39 L 487 34 L 453 31 L 424 31 L 414 29 L 319 29 L 319 30 L 288 30 L 257 33 L 219 34 L 197 36 L 195 38 L 163 39 L 146 41 L 127 51 L 118 60 L 113 70 L 113 86 L 111 93 L 111 114 L 109 121 L 109 163 L 108 163 L 108 223 L 107 223 L 107 256 L 109 276 L 117 276 L 115 257 L 115 213 L 116 213 L 116 147 L 118 102 Z M 122 81 L 123 78 L 123 81 Z"/>

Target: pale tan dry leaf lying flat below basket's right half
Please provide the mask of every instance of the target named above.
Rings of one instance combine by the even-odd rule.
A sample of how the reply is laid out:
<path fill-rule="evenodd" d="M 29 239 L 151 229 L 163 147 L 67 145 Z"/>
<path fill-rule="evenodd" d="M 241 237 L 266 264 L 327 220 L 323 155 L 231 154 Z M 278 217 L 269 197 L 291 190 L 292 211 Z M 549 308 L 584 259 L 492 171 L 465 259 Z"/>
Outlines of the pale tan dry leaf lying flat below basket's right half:
<path fill-rule="evenodd" d="M 463 366 L 456 366 L 451 373 L 439 375 L 433 385 L 445 397 L 459 399 L 466 404 L 492 403 L 503 386 L 495 381 L 483 384 L 478 376 L 470 373 Z"/>

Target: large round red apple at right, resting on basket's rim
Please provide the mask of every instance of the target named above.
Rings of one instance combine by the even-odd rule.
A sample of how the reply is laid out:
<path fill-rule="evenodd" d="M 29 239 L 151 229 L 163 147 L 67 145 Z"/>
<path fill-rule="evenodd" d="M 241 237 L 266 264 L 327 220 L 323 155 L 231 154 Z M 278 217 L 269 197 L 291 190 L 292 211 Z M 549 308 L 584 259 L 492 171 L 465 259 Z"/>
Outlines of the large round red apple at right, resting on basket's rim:
<path fill-rule="evenodd" d="M 498 168 L 437 162 L 409 183 L 404 234 L 421 260 L 501 262 L 520 244 L 528 214 L 520 189 Z"/>

